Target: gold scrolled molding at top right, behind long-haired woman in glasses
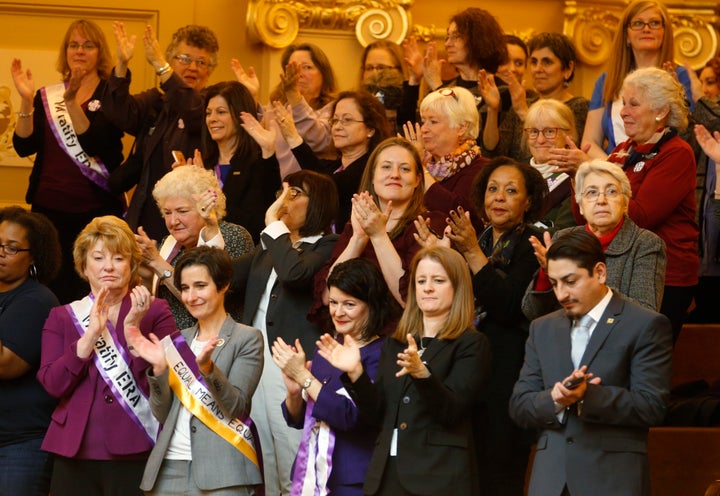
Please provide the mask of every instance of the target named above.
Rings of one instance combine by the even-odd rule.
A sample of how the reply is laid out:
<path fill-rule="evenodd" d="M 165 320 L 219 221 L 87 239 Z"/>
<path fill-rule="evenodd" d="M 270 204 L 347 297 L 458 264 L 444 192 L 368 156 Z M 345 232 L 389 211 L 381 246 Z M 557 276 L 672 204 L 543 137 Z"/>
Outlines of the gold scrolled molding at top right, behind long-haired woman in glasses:
<path fill-rule="evenodd" d="M 575 43 L 581 62 L 598 66 L 607 61 L 626 5 L 622 1 L 565 1 L 563 32 Z M 666 5 L 674 31 L 675 62 L 703 67 L 718 50 L 718 4 L 700 0 Z"/>

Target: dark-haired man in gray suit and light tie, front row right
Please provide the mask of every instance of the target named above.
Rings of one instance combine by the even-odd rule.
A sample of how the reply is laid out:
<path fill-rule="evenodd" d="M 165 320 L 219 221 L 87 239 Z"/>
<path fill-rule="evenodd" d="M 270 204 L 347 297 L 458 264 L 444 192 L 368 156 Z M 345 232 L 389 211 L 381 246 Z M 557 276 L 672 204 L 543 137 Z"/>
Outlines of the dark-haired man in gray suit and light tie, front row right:
<path fill-rule="evenodd" d="M 605 285 L 592 234 L 560 238 L 547 259 L 563 310 L 530 325 L 510 399 L 515 422 L 541 431 L 529 494 L 648 495 L 647 435 L 665 415 L 670 322 Z"/>

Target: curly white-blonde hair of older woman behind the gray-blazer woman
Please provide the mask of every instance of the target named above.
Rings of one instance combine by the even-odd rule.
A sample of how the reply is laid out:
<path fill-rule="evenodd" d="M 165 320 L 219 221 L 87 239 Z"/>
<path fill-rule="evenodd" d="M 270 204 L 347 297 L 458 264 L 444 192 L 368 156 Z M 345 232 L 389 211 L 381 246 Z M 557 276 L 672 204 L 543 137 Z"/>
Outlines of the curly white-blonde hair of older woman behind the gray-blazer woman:
<path fill-rule="evenodd" d="M 184 198 L 195 204 L 193 195 L 214 191 L 217 201 L 213 210 L 218 220 L 225 217 L 225 194 L 212 171 L 194 165 L 176 167 L 165 174 L 153 188 L 153 198 L 160 210 L 169 198 Z"/>

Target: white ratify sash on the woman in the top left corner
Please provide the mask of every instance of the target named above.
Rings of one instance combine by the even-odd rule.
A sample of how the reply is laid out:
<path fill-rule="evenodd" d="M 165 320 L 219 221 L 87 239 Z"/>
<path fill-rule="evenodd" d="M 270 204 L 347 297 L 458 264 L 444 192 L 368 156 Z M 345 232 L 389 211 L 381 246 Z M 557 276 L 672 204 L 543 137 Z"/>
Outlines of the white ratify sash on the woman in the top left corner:
<path fill-rule="evenodd" d="M 80 169 L 80 172 L 87 179 L 97 184 L 105 191 L 110 191 L 108 177 L 110 173 L 102 163 L 100 157 L 91 157 L 80 146 L 72 119 L 65 105 L 65 83 L 58 83 L 45 86 L 40 89 L 45 115 L 47 116 L 50 129 L 57 140 L 60 148 Z"/>

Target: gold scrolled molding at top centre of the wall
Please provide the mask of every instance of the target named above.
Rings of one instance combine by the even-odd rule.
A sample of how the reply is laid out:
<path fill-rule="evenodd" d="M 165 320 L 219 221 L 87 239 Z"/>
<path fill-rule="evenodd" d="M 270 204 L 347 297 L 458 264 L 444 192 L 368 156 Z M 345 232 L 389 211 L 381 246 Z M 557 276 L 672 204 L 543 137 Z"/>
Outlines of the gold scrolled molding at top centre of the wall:
<path fill-rule="evenodd" d="M 300 29 L 355 31 L 362 46 L 400 43 L 411 24 L 414 0 L 251 0 L 247 9 L 252 39 L 273 48 L 293 43 Z"/>

